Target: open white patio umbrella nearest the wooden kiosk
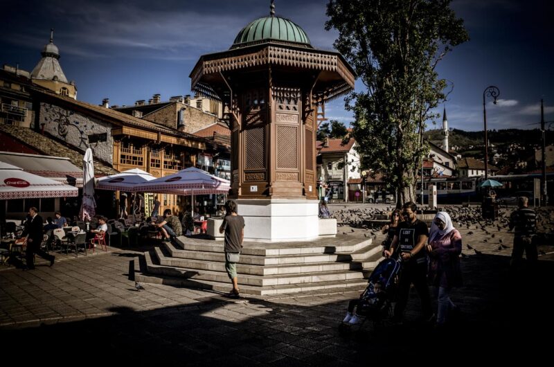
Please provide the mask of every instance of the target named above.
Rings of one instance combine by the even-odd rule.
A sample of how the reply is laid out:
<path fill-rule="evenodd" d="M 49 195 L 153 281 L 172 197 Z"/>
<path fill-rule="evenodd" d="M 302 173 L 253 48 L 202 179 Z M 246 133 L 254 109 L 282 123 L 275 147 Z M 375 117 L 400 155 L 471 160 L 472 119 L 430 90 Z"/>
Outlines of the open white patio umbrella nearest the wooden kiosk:
<path fill-rule="evenodd" d="M 231 182 L 209 174 L 199 168 L 189 167 L 166 177 L 154 179 L 137 186 L 136 190 L 148 193 L 165 193 L 174 195 L 226 194 Z M 194 211 L 194 205 L 193 205 Z"/>

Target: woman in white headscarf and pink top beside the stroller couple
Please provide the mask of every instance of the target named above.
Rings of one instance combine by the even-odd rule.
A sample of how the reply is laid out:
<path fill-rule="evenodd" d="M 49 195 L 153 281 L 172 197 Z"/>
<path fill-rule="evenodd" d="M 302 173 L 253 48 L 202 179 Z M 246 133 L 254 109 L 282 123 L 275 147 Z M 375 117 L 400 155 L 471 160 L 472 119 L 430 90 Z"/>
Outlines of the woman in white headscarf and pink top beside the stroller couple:
<path fill-rule="evenodd" d="M 462 236 L 452 225 L 448 213 L 440 211 L 435 215 L 429 231 L 427 251 L 431 258 L 429 277 L 433 285 L 438 287 L 437 325 L 440 327 L 447 322 L 450 311 L 458 310 L 458 306 L 450 299 L 450 291 L 462 285 L 459 259 Z"/>

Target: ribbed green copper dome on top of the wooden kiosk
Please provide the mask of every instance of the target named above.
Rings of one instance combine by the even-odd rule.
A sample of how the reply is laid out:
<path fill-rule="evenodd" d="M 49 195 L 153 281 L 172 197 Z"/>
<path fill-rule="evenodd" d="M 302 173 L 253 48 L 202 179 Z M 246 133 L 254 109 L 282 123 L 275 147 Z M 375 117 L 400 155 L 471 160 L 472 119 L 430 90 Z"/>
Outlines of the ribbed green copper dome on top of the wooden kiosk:
<path fill-rule="evenodd" d="M 242 28 L 237 37 L 235 37 L 235 42 L 233 42 L 231 49 L 262 43 L 265 40 L 294 42 L 298 46 L 312 48 L 310 39 L 300 26 L 289 21 L 289 19 L 264 17 L 256 19 Z"/>

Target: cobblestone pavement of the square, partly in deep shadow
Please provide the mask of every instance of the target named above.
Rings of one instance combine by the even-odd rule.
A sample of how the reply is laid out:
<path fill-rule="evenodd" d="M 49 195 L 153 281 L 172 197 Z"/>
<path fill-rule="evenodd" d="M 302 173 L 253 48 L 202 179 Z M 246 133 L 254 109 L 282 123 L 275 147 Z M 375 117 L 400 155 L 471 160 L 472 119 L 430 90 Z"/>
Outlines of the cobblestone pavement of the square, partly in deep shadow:
<path fill-rule="evenodd" d="M 113 249 L 95 256 L 62 256 L 53 267 L 38 261 L 34 271 L 4 267 L 1 350 L 5 360 L 7 351 L 22 363 L 57 365 L 368 366 L 377 359 L 429 363 L 440 354 L 453 362 L 538 359 L 551 345 L 543 335 L 554 326 L 549 312 L 554 247 L 541 248 L 537 276 L 510 283 L 512 234 L 497 231 L 491 239 L 480 229 L 469 231 L 461 231 L 465 285 L 452 293 L 462 312 L 446 330 L 419 319 L 415 292 L 404 325 L 366 322 L 345 332 L 339 322 L 357 292 L 235 301 L 216 292 L 163 285 L 144 284 L 137 291 L 129 280 L 129 261 L 139 252 Z M 349 235 L 364 238 L 364 233 L 355 229 Z M 378 235 L 377 243 L 381 239 Z M 500 239 L 510 248 L 499 249 Z"/>

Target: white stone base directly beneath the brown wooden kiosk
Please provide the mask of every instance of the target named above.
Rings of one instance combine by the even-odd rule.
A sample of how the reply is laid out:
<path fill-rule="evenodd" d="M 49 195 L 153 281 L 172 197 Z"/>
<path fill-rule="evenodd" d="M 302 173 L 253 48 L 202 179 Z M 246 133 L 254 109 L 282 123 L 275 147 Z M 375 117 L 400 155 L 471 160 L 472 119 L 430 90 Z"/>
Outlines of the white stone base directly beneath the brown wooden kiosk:
<path fill-rule="evenodd" d="M 310 241 L 319 237 L 318 200 L 238 199 L 244 240 Z"/>

